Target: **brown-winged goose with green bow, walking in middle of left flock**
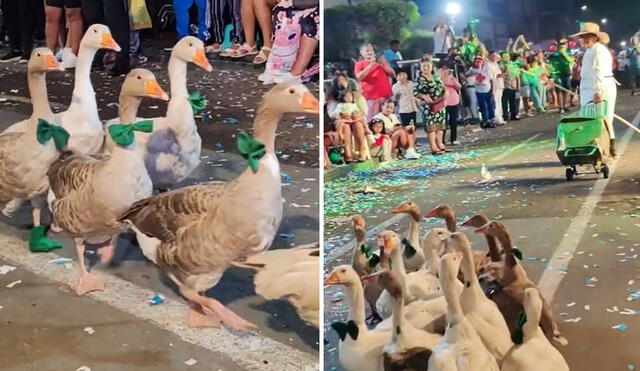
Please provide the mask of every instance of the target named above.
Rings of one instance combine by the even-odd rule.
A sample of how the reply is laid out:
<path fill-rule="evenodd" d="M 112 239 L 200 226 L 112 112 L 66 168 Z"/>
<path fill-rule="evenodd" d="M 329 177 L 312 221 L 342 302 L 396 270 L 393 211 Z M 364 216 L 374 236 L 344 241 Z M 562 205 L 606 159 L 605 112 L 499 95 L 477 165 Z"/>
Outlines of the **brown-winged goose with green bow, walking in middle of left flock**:
<path fill-rule="evenodd" d="M 153 124 L 150 121 L 144 125 L 124 124 L 135 120 L 142 97 L 168 99 L 153 73 L 135 69 L 127 75 L 120 93 L 123 124 L 109 128 L 111 140 L 118 144 L 111 155 L 61 157 L 47 173 L 55 196 L 50 200 L 53 219 L 58 227 L 74 237 L 80 268 L 78 295 L 102 290 L 105 284 L 104 280 L 90 275 L 85 267 L 85 242 L 109 241 L 99 253 L 103 261 L 111 260 L 115 238 L 122 228 L 117 217 L 132 203 L 152 193 L 151 180 L 137 155 L 133 130 L 151 130 Z"/>

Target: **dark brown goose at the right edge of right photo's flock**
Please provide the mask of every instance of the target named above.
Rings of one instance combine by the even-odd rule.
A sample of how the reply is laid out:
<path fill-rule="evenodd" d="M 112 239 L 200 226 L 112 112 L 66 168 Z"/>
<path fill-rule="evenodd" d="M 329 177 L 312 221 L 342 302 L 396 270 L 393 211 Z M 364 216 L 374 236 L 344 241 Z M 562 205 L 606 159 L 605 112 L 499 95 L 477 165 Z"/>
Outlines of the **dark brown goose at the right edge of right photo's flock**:
<path fill-rule="evenodd" d="M 495 301 L 500 312 L 504 315 L 509 330 L 513 332 L 518 314 L 524 310 L 524 293 L 527 288 L 538 287 L 527 277 L 524 267 L 518 263 L 511 243 L 511 235 L 500 222 L 492 221 L 476 230 L 476 233 L 489 234 L 496 237 L 504 248 L 504 270 L 501 277 L 496 277 L 501 290 L 494 293 L 491 300 Z M 542 315 L 540 327 L 549 340 L 560 345 L 567 345 L 567 339 L 562 336 L 554 318 L 549 302 L 542 296 Z"/>

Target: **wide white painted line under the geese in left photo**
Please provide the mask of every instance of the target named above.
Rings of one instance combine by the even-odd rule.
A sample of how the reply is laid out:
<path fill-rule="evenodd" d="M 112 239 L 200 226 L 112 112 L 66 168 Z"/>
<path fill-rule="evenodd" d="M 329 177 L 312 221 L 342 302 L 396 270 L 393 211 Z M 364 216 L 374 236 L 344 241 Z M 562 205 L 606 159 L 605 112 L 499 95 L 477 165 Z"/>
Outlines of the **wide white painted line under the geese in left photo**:
<path fill-rule="evenodd" d="M 0 234 L 0 257 L 47 279 L 75 285 L 77 270 L 68 270 L 58 264 L 47 264 L 60 258 L 55 253 L 32 254 L 22 239 Z M 249 370 L 319 370 L 318 357 L 301 352 L 255 332 L 219 329 L 192 329 L 186 327 L 187 306 L 179 301 L 166 299 L 162 305 L 150 306 L 149 298 L 155 293 L 135 286 L 122 278 L 95 272 L 107 279 L 103 292 L 87 296 L 132 314 L 170 331 L 182 340 L 211 350 Z M 266 363 L 265 363 L 266 362 Z"/>

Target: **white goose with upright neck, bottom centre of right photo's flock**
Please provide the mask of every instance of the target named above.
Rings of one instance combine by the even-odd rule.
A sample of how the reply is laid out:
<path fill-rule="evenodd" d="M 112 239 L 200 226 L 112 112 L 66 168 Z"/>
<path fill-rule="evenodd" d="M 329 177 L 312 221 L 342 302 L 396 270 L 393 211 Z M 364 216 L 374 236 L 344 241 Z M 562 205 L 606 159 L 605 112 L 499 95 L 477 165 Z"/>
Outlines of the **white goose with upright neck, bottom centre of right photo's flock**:
<path fill-rule="evenodd" d="M 498 363 L 466 318 L 460 305 L 463 284 L 458 280 L 458 252 L 445 254 L 440 261 L 440 286 L 447 300 L 449 324 L 444 337 L 429 359 L 429 371 L 498 371 Z"/>

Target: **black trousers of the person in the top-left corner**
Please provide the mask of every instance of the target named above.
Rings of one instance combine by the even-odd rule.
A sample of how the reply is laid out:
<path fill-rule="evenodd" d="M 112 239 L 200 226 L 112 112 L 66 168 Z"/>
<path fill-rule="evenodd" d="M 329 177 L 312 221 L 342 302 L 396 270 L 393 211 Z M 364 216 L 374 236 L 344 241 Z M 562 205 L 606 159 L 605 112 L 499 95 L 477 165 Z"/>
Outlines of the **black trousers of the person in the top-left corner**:
<path fill-rule="evenodd" d="M 36 23 L 41 21 L 38 13 L 44 13 L 44 2 L 5 0 L 2 2 L 2 13 L 11 49 L 22 51 L 25 56 L 30 55 L 33 49 L 33 35 L 38 26 Z"/>

